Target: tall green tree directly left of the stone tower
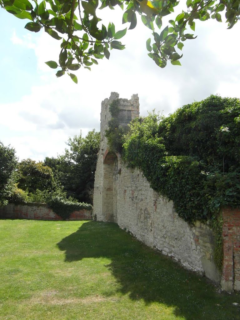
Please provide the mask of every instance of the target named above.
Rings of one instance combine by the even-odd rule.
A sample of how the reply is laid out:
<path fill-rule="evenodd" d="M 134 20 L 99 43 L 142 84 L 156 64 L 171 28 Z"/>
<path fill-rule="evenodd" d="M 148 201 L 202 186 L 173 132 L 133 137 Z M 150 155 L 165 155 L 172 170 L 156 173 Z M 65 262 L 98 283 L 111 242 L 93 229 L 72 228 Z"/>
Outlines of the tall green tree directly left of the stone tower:
<path fill-rule="evenodd" d="M 59 180 L 68 196 L 78 201 L 92 202 L 91 192 L 94 185 L 94 173 L 99 151 L 100 132 L 89 131 L 85 138 L 82 133 L 69 138 L 65 153 L 55 158 L 46 157 L 56 180 Z"/>

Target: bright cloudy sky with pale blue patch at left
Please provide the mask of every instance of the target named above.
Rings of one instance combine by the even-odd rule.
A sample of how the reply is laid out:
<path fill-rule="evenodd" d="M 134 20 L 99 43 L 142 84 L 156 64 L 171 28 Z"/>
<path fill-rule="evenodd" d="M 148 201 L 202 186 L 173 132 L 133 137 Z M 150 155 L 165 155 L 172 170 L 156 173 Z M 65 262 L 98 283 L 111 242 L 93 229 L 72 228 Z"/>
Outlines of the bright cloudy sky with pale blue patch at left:
<path fill-rule="evenodd" d="M 128 26 L 122 13 L 104 9 L 100 16 L 117 31 Z M 56 69 L 44 63 L 58 61 L 60 41 L 24 29 L 27 20 L 3 9 L 0 21 L 0 141 L 15 148 L 19 160 L 56 157 L 68 137 L 99 131 L 101 101 L 113 91 L 127 99 L 138 93 L 140 116 L 153 109 L 168 115 L 210 94 L 240 98 L 240 22 L 227 30 L 216 20 L 197 21 L 197 38 L 184 42 L 182 66 L 161 69 L 147 55 L 151 30 L 138 20 L 120 40 L 126 49 L 112 50 L 91 71 L 75 71 L 75 84 L 67 75 L 56 78 Z"/>

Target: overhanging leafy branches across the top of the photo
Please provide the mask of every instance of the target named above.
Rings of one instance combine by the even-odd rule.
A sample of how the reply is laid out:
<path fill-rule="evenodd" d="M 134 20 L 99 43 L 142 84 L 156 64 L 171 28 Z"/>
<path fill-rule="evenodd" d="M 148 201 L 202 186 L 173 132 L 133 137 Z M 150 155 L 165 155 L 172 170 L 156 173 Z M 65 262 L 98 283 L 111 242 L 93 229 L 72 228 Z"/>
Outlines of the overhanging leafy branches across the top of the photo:
<path fill-rule="evenodd" d="M 146 42 L 148 56 L 161 68 L 167 61 L 181 65 L 183 42 L 196 38 L 189 33 L 189 28 L 195 31 L 195 20 L 212 18 L 221 22 L 224 13 L 229 29 L 239 20 L 240 0 L 187 0 L 186 9 L 175 17 L 174 8 L 179 3 L 176 0 L 0 0 L 0 6 L 9 13 L 31 20 L 26 29 L 38 32 L 44 28 L 54 39 L 62 40 L 58 63 L 47 61 L 46 64 L 50 68 L 60 67 L 56 76 L 67 72 L 75 83 L 77 77 L 71 70 L 90 69 L 93 63 L 98 64 L 96 59 L 109 59 L 109 49 L 123 50 L 125 47 L 118 40 L 126 34 L 127 28 L 116 32 L 112 22 L 108 27 L 100 26 L 97 9 L 120 6 L 124 11 L 123 24 L 130 23 L 129 29 L 136 27 L 136 13 L 140 14 L 144 25 L 152 31 L 152 37 Z M 169 14 L 172 19 L 163 28 L 162 18 Z M 156 32 L 156 27 L 160 32 Z"/>

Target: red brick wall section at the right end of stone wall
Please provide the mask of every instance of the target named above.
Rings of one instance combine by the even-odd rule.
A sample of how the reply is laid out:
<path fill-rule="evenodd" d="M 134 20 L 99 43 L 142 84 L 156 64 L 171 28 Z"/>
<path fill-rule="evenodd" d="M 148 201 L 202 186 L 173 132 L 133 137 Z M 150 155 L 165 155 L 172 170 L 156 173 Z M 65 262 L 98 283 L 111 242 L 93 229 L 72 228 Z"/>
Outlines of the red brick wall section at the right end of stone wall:
<path fill-rule="evenodd" d="M 240 291 L 240 210 L 222 209 L 223 270 L 222 288 Z"/>

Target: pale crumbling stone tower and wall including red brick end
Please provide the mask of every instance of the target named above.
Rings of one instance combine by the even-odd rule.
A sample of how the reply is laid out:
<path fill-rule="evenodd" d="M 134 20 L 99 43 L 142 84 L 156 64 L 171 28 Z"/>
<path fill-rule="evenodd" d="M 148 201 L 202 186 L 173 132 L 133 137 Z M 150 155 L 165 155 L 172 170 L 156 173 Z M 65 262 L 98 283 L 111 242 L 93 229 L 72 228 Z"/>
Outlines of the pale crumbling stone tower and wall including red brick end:
<path fill-rule="evenodd" d="M 108 151 L 105 130 L 111 118 L 109 104 L 118 98 L 118 93 L 111 92 L 109 99 L 102 101 L 101 105 L 101 140 L 95 172 L 93 218 L 116 222 L 120 228 L 171 256 L 185 268 L 205 274 L 217 283 L 221 281 L 224 290 L 239 290 L 240 212 L 237 215 L 232 211 L 223 212 L 224 228 L 228 228 L 223 232 L 224 250 L 225 254 L 226 250 L 230 253 L 225 257 L 221 276 L 213 261 L 213 234 L 209 225 L 199 221 L 190 225 L 179 218 L 172 201 L 151 189 L 138 169 L 127 168 L 119 154 Z M 138 95 L 133 94 L 130 100 L 119 99 L 119 108 L 120 122 L 127 125 L 139 116 Z M 231 267 L 233 261 L 235 269 Z"/>

